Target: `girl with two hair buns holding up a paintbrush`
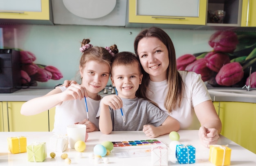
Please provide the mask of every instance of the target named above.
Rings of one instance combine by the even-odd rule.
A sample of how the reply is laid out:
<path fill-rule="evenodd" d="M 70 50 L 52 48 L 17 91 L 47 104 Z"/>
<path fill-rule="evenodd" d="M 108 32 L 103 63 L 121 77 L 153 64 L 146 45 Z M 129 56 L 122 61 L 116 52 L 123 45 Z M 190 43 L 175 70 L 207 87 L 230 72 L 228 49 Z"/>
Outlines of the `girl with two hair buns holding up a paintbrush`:
<path fill-rule="evenodd" d="M 80 48 L 83 52 L 79 64 L 81 85 L 59 86 L 45 96 L 27 101 L 21 107 L 22 115 L 39 114 L 56 106 L 54 132 L 66 134 L 67 125 L 74 123 L 85 124 L 87 132 L 99 131 L 96 114 L 101 96 L 98 93 L 108 83 L 112 54 L 117 53 L 118 49 L 116 45 L 106 48 L 93 47 L 89 42 L 89 39 L 83 39 Z"/>

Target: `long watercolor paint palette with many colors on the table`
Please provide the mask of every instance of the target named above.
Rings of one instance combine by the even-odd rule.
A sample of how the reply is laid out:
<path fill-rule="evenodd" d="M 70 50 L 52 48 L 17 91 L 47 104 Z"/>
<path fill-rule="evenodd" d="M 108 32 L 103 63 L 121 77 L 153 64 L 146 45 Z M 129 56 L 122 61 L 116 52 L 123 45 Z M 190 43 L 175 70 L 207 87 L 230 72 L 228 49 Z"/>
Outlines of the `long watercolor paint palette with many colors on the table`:
<path fill-rule="evenodd" d="M 148 148 L 151 146 L 166 146 L 163 142 L 159 140 L 134 140 L 134 141 L 117 141 L 112 142 L 114 149 L 133 149 L 133 148 Z"/>

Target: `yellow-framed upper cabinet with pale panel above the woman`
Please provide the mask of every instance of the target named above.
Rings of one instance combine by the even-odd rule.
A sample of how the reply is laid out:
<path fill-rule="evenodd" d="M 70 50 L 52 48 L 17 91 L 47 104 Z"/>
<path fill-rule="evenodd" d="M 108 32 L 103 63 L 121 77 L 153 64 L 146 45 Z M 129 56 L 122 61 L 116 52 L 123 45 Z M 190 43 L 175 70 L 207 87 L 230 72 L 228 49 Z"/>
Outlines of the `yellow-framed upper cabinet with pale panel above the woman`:
<path fill-rule="evenodd" d="M 185 1 L 129 0 L 129 23 L 205 25 L 207 0 Z"/>

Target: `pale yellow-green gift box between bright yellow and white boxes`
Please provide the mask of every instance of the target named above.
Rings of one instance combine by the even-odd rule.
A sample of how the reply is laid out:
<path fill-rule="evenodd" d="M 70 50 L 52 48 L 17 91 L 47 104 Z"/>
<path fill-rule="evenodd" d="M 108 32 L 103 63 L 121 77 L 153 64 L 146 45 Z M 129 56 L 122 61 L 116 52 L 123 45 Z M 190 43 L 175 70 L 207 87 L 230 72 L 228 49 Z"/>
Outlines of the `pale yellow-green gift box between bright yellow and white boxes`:
<path fill-rule="evenodd" d="M 29 162 L 43 162 L 46 157 L 45 142 L 36 142 L 27 146 L 27 160 Z"/>

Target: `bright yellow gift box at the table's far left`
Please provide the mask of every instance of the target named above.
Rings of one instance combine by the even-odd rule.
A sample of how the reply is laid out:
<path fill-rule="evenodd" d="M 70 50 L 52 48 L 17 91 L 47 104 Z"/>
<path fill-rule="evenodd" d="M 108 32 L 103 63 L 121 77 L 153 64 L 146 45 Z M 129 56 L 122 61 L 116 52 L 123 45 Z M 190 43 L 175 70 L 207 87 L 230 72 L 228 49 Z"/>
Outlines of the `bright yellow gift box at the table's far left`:
<path fill-rule="evenodd" d="M 27 152 L 27 138 L 26 137 L 10 137 L 7 138 L 8 150 L 13 153 Z"/>

